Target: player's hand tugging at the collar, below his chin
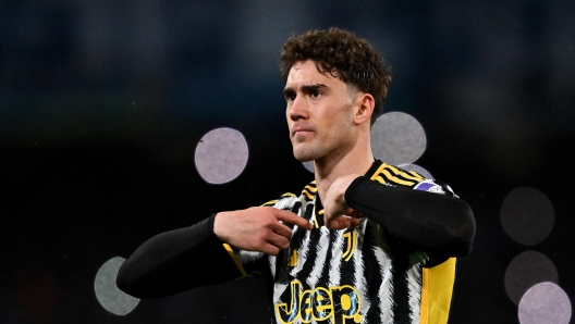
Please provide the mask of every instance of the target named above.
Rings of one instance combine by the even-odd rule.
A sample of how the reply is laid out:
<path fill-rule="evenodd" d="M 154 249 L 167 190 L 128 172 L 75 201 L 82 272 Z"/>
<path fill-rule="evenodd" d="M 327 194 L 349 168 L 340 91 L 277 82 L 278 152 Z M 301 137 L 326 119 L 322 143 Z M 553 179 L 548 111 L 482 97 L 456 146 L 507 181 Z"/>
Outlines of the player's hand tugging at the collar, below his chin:
<path fill-rule="evenodd" d="M 323 223 L 331 229 L 343 229 L 359 225 L 362 213 L 345 203 L 345 190 L 358 174 L 350 174 L 337 178 L 326 192 L 323 202 Z"/>

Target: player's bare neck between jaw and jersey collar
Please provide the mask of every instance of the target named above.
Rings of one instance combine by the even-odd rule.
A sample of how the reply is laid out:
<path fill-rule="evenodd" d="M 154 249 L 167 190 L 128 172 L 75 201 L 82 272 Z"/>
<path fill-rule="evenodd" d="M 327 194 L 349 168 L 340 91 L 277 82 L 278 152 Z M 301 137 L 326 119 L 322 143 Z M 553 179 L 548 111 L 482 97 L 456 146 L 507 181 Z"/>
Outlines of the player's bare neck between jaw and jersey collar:
<path fill-rule="evenodd" d="M 364 175 L 374 163 L 374 154 L 367 140 L 356 142 L 346 152 L 334 152 L 314 161 L 314 174 L 319 198 L 325 198 L 331 184 L 340 176 L 348 174 Z"/>

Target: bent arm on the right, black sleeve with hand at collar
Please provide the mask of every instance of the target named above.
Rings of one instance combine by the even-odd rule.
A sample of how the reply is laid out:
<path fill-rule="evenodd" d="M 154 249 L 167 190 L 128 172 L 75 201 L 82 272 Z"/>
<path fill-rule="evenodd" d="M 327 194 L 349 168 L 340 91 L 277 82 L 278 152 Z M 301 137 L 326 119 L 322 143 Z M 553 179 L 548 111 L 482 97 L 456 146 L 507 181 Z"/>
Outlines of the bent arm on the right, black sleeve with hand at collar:
<path fill-rule="evenodd" d="M 473 247 L 474 214 L 456 197 L 384 186 L 365 176 L 348 175 L 333 183 L 326 200 L 326 224 L 353 209 L 430 256 L 464 257 Z"/>

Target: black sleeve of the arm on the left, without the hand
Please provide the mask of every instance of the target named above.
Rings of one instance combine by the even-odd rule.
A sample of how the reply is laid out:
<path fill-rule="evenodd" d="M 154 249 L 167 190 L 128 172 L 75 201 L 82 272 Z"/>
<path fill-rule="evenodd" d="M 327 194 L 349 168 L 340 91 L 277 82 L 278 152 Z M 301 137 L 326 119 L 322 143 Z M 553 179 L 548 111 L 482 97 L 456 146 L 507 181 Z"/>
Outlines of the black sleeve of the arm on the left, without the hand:
<path fill-rule="evenodd" d="M 213 234 L 215 217 L 145 241 L 120 266 L 117 286 L 136 298 L 159 298 L 240 277 Z"/>

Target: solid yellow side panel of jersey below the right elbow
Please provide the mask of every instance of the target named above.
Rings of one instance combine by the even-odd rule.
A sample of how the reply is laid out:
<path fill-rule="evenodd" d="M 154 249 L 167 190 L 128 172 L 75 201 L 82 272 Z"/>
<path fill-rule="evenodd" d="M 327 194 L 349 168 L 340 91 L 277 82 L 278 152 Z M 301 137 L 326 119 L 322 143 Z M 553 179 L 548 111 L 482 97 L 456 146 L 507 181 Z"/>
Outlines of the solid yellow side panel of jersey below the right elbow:
<path fill-rule="evenodd" d="M 448 323 L 455 281 L 455 258 L 427 269 L 421 285 L 420 324 Z"/>

